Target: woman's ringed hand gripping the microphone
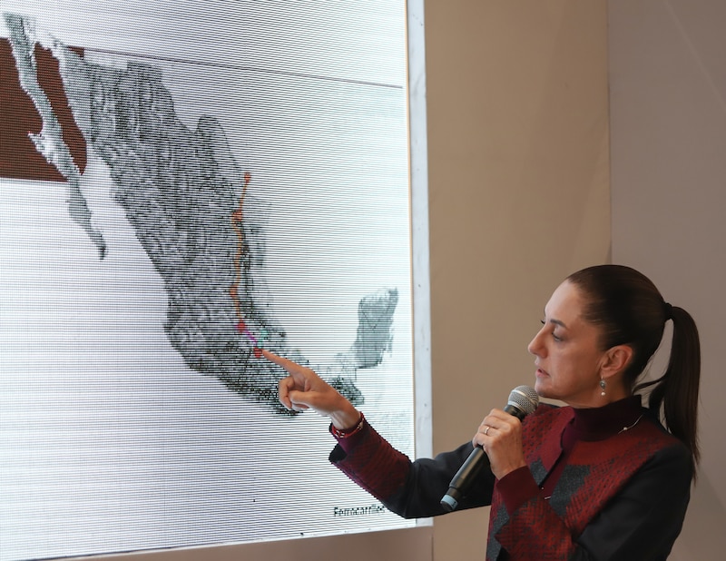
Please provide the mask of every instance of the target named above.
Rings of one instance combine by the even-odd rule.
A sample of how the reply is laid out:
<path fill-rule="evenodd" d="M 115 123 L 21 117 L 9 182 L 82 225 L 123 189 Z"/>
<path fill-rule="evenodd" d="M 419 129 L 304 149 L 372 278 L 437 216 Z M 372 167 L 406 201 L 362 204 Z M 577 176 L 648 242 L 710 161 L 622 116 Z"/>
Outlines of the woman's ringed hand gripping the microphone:
<path fill-rule="evenodd" d="M 472 443 L 484 448 L 497 479 L 527 465 L 522 451 L 522 423 L 501 409 L 492 409 L 484 418 Z"/>

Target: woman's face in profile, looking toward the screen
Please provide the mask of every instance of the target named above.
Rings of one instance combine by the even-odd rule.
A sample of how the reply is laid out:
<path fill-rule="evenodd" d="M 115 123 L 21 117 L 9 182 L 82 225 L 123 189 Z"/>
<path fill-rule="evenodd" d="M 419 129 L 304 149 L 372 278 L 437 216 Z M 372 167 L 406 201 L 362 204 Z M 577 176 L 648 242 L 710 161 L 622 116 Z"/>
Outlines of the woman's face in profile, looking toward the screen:
<path fill-rule="evenodd" d="M 527 349 L 535 355 L 535 389 L 543 398 L 573 407 L 600 407 L 600 331 L 582 318 L 580 290 L 564 281 L 544 307 L 542 329 Z"/>

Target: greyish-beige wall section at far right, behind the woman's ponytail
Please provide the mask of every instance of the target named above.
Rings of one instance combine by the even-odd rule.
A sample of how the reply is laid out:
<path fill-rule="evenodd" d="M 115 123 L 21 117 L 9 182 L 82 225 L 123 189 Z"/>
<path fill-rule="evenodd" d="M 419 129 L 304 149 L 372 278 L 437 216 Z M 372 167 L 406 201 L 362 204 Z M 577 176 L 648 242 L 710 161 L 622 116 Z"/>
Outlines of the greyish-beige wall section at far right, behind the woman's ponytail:
<path fill-rule="evenodd" d="M 701 331 L 701 470 L 670 558 L 722 559 L 726 4 L 609 4 L 613 259 L 651 276 Z"/>

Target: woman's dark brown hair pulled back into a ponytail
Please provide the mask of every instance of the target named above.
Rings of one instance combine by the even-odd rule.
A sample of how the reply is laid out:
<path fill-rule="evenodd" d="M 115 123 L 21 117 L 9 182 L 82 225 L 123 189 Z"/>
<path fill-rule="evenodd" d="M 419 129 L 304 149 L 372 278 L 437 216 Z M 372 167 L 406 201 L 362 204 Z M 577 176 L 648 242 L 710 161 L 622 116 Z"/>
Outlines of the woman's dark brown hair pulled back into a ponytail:
<path fill-rule="evenodd" d="M 701 379 L 701 344 L 691 314 L 663 300 L 643 273 L 623 265 L 599 265 L 567 278 L 582 290 L 587 304 L 584 320 L 603 331 L 603 349 L 628 345 L 633 358 L 623 380 L 633 390 L 652 388 L 648 406 L 672 435 L 691 450 L 694 464 L 698 447 L 698 388 Z M 665 322 L 672 320 L 671 358 L 661 378 L 636 385 L 637 379 L 661 344 Z"/>

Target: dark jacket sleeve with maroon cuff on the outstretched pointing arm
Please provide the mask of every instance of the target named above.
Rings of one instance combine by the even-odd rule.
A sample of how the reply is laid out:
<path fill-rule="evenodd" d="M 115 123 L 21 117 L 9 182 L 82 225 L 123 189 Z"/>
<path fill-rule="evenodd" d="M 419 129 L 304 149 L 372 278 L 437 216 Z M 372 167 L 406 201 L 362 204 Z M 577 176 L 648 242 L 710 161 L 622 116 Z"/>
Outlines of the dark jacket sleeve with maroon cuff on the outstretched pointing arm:
<path fill-rule="evenodd" d="M 329 459 L 392 512 L 405 518 L 421 518 L 446 513 L 441 498 L 472 449 L 472 444 L 467 443 L 436 458 L 412 462 L 367 424 L 355 440 L 338 440 Z M 494 476 L 488 469 L 483 472 L 459 508 L 491 503 Z"/>

